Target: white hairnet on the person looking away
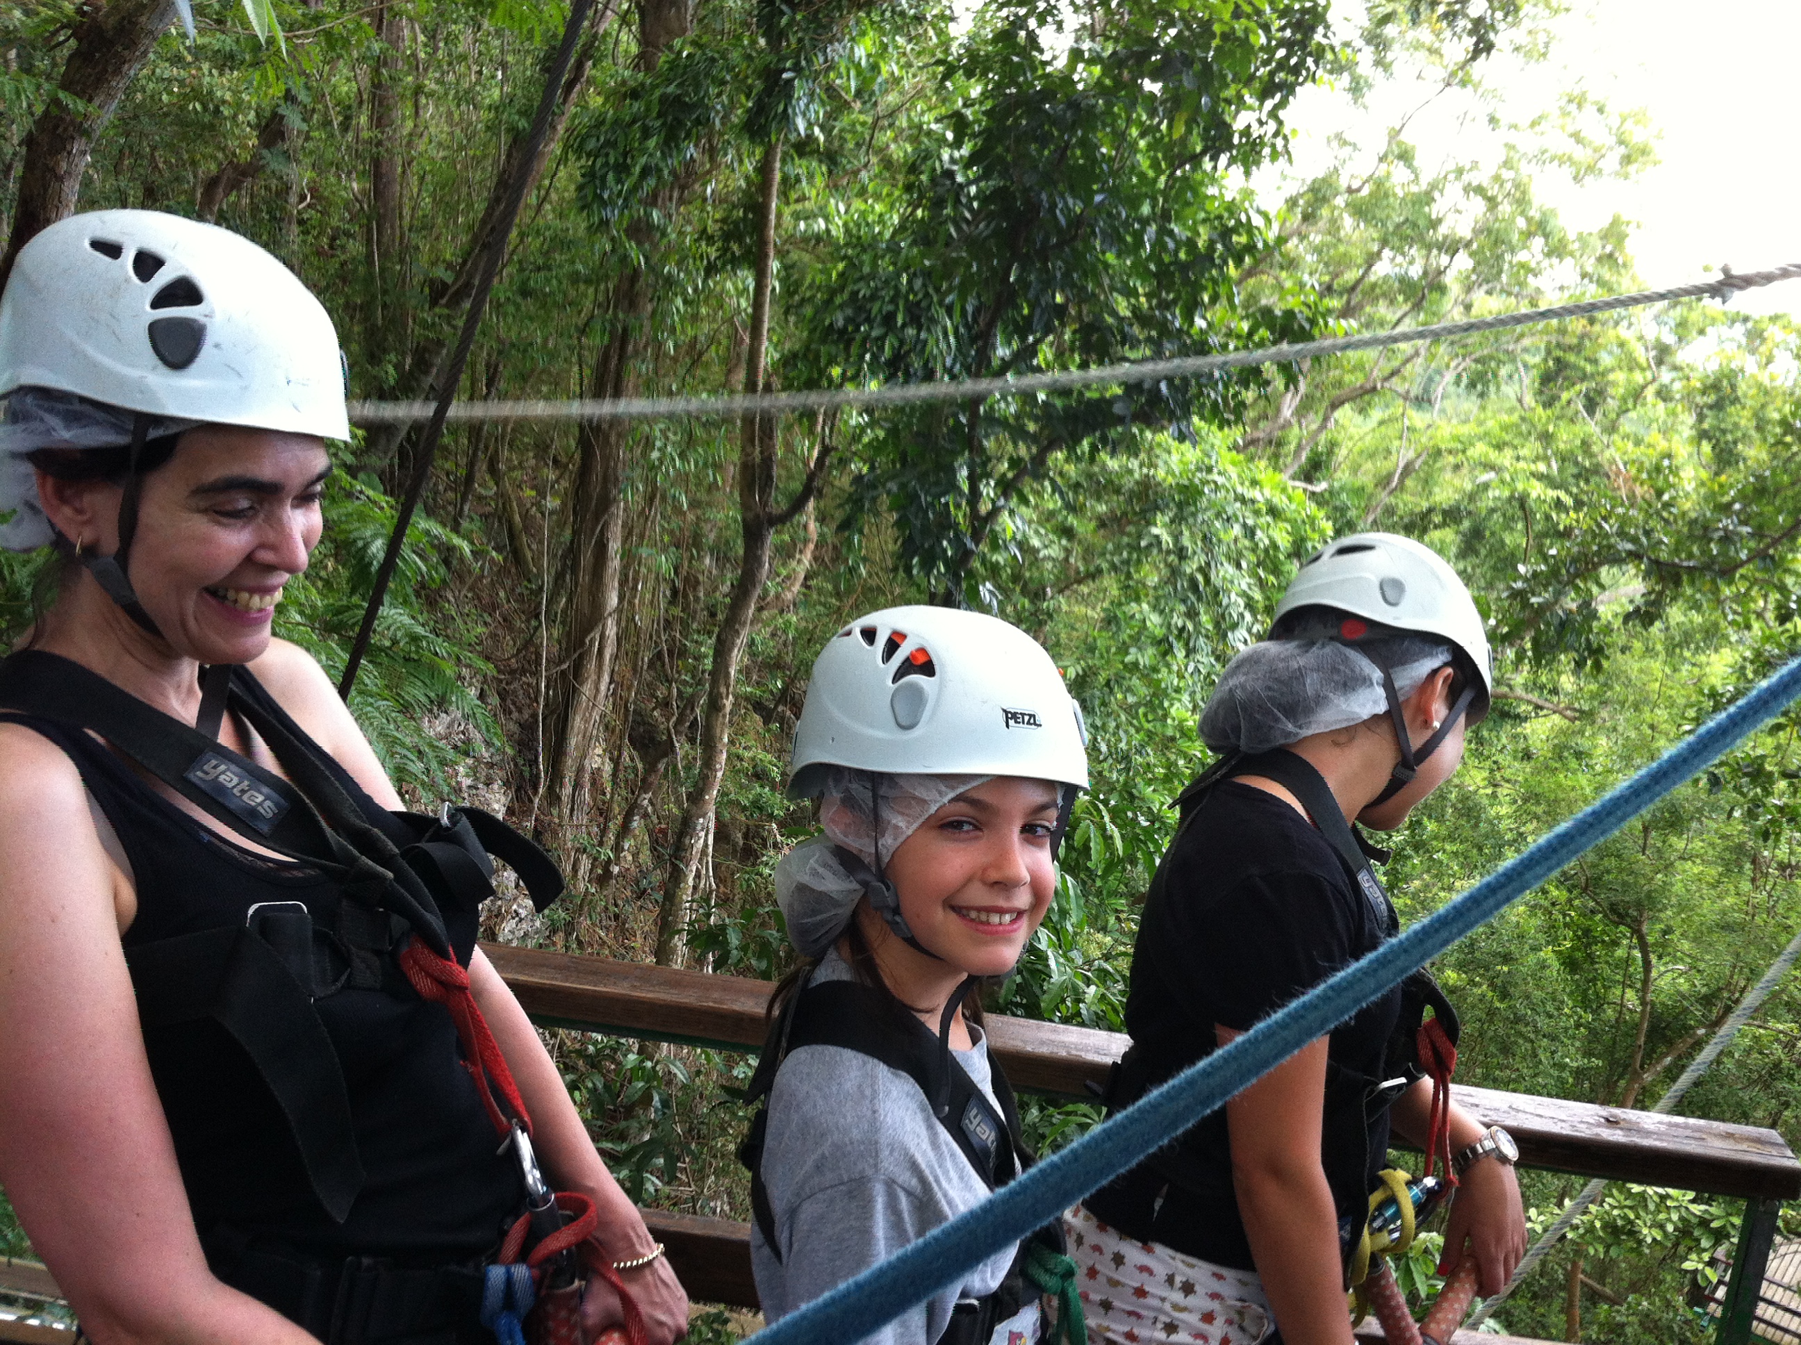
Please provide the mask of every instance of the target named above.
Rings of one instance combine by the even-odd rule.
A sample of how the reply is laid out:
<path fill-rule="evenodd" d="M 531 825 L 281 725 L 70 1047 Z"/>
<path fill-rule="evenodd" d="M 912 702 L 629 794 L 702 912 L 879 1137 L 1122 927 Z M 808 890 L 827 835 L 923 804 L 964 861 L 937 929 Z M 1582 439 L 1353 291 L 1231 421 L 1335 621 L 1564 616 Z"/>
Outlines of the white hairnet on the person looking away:
<path fill-rule="evenodd" d="M 1380 657 L 1394 670 L 1394 690 L 1405 700 L 1452 661 L 1452 650 L 1401 637 L 1385 641 Z M 1219 673 L 1201 711 L 1201 742 L 1216 753 L 1268 753 L 1313 733 L 1362 724 L 1387 708 L 1381 668 L 1349 645 L 1266 639 L 1239 650 Z"/>

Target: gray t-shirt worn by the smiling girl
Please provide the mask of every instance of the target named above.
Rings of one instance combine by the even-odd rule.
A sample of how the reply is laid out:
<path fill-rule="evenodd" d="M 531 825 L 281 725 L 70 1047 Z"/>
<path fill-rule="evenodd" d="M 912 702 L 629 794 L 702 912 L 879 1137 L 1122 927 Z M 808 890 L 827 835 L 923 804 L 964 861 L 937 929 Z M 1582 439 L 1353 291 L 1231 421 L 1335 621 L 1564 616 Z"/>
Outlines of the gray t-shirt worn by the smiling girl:
<path fill-rule="evenodd" d="M 850 981 L 836 954 L 814 981 Z M 973 1050 L 956 1061 L 994 1102 L 989 1048 L 976 1028 Z M 789 1053 L 769 1091 L 764 1187 L 774 1214 L 782 1260 L 760 1228 L 751 1230 L 751 1269 L 764 1318 L 787 1316 L 868 1269 L 933 1228 L 978 1205 L 989 1188 L 969 1167 L 931 1104 L 908 1075 L 843 1046 L 801 1046 Z M 866 1345 L 935 1345 L 960 1298 L 1000 1287 L 1014 1248 L 971 1268 L 955 1289 L 908 1309 Z M 1037 1340 L 1037 1304 L 994 1329 L 992 1345 Z"/>

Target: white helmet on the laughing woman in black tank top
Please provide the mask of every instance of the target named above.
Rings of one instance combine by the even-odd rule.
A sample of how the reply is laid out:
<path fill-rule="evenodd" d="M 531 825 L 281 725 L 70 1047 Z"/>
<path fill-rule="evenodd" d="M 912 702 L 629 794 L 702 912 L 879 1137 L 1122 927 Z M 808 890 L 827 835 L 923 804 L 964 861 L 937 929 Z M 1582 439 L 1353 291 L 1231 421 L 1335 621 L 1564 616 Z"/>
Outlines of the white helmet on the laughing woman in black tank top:
<path fill-rule="evenodd" d="M 0 396 L 20 387 L 349 438 L 324 306 L 250 239 L 160 211 L 74 214 L 20 250 L 0 295 Z"/>

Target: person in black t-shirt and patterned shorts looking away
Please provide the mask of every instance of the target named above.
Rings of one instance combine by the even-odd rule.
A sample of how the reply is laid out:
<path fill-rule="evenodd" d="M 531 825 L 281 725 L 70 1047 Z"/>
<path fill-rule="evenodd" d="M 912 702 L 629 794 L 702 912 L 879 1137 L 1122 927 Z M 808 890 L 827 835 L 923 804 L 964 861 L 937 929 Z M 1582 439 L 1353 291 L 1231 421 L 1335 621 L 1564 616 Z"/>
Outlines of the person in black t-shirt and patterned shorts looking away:
<path fill-rule="evenodd" d="M 1201 715 L 1225 756 L 1181 796 L 1151 884 L 1111 1106 L 1398 933 L 1351 823 L 1398 828 L 1457 771 L 1489 691 L 1482 618 L 1428 547 L 1362 533 L 1300 567 Z M 1421 996 L 1453 1016 L 1430 978 L 1408 985 L 1425 988 L 1365 1005 L 1068 1212 L 1090 1332 L 1351 1345 L 1347 1268 L 1390 1125 L 1461 1174 L 1441 1269 L 1468 1253 L 1482 1295 L 1506 1284 L 1525 1248 L 1516 1151 L 1455 1106 L 1432 1133 Z"/>

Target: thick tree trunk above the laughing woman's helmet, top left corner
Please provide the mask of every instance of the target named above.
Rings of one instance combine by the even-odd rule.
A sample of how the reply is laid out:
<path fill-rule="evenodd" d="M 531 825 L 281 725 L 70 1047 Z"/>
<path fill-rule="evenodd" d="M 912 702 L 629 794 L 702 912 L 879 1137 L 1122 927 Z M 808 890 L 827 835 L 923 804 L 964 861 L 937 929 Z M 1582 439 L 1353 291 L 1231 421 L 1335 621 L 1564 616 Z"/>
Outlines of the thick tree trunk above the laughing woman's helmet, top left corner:
<path fill-rule="evenodd" d="M 13 274 L 18 250 L 74 212 L 94 140 L 175 16 L 169 0 L 112 0 L 85 9 L 56 81 L 61 97 L 45 104 L 25 135 L 0 286 Z"/>

